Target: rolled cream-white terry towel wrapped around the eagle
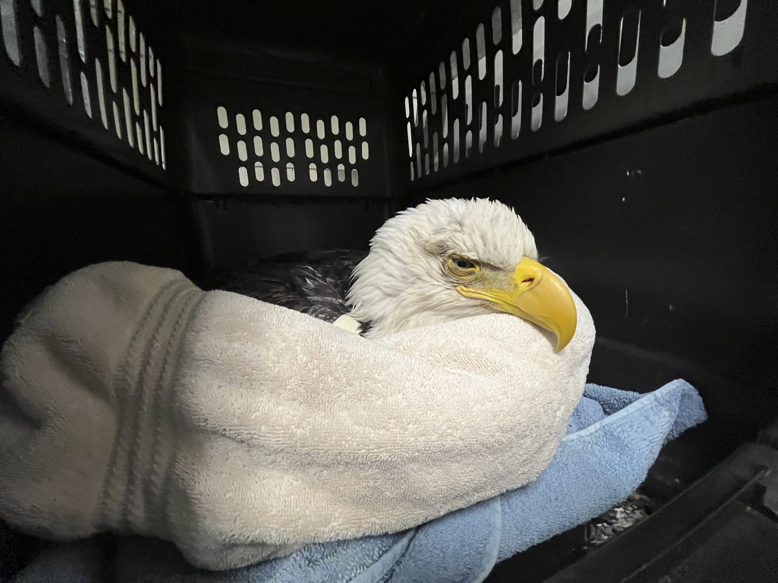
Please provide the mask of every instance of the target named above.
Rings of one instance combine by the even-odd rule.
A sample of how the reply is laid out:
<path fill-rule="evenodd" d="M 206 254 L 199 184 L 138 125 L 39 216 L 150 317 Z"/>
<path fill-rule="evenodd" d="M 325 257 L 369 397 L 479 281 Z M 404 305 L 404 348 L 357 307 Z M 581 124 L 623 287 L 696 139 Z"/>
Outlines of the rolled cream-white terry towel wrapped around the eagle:
<path fill-rule="evenodd" d="M 173 540 L 225 569 L 394 532 L 527 484 L 584 389 L 505 314 L 366 340 L 178 271 L 86 267 L 0 354 L 0 515 L 54 539 Z"/>

